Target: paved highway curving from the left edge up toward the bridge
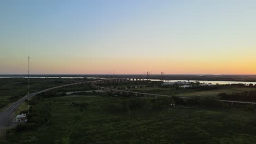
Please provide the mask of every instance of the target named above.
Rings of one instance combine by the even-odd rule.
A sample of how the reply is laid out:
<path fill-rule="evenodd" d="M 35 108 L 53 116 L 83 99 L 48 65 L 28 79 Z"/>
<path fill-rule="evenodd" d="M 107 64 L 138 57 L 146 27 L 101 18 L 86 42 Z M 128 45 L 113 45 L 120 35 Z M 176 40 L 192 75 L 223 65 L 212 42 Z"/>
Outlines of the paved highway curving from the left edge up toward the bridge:
<path fill-rule="evenodd" d="M 0 127 L 9 127 L 9 125 L 11 124 L 12 120 L 13 120 L 13 114 L 15 112 L 15 110 L 19 107 L 19 105 L 24 102 L 26 99 L 34 97 L 35 95 L 42 93 L 42 92 L 46 92 L 46 91 L 50 91 L 51 89 L 55 89 L 55 88 L 60 88 L 60 87 L 65 87 L 65 86 L 72 86 L 72 85 L 79 85 L 82 83 L 87 83 L 87 82 L 91 82 L 91 81 L 85 81 L 85 82 L 77 82 L 77 83 L 70 83 L 67 85 L 62 85 L 62 86 L 57 86 L 57 87 L 53 87 L 53 88 L 48 88 L 48 89 L 44 89 L 43 91 L 39 91 L 39 92 L 34 92 L 31 94 L 27 94 L 24 97 L 22 97 L 21 99 L 19 99 L 18 101 L 16 101 L 15 103 L 11 104 L 9 107 L 5 108 L 1 113 L 0 113 Z"/>

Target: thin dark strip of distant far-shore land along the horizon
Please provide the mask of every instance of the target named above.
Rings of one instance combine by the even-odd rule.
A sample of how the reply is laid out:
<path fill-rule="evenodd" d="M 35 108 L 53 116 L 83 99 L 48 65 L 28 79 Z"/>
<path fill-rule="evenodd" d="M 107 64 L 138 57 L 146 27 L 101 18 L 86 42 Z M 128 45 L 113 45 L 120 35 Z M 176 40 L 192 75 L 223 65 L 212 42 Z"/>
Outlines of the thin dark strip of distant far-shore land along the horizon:
<path fill-rule="evenodd" d="M 28 75 L 0 75 L 0 78 L 8 77 L 28 77 Z M 137 79 L 147 79 L 146 75 L 30 75 L 31 78 L 63 78 L 63 79 L 83 79 L 83 78 L 137 78 Z M 160 74 L 150 75 L 149 79 L 152 80 L 194 80 L 194 81 L 228 81 L 228 82 L 256 82 L 256 75 L 164 75 Z"/>

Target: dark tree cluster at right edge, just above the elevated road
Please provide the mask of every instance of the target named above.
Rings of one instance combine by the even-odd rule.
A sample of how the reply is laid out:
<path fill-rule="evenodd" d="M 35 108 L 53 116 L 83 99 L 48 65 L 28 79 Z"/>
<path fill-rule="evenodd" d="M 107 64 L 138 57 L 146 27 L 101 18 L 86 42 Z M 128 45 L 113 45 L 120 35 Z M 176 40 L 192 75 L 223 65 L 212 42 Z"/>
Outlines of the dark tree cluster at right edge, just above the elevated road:
<path fill-rule="evenodd" d="M 256 101 L 256 91 L 245 91 L 232 94 L 220 93 L 219 97 L 223 100 Z"/>

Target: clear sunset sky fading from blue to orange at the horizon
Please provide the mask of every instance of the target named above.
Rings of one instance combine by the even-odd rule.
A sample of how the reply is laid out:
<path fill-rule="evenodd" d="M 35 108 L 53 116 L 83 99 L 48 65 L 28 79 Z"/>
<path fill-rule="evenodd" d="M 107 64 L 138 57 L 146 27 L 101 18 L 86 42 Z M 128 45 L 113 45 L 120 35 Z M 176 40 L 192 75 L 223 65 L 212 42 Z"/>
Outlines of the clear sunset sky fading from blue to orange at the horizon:
<path fill-rule="evenodd" d="M 256 1 L 2 0 L 0 74 L 256 74 Z"/>

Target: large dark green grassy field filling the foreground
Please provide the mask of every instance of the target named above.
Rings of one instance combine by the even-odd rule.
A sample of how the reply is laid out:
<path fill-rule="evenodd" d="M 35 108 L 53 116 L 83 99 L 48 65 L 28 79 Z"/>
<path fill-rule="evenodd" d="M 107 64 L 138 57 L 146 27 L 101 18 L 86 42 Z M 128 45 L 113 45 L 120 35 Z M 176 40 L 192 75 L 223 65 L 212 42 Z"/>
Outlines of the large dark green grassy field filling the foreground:
<path fill-rule="evenodd" d="M 51 125 L 8 134 L 10 143 L 256 143 L 256 113 L 242 109 L 177 106 L 159 111 L 109 113 L 104 106 L 119 98 L 68 96 L 46 98 Z M 124 98 L 122 98 L 124 99 Z M 88 103 L 79 111 L 74 103 Z"/>

